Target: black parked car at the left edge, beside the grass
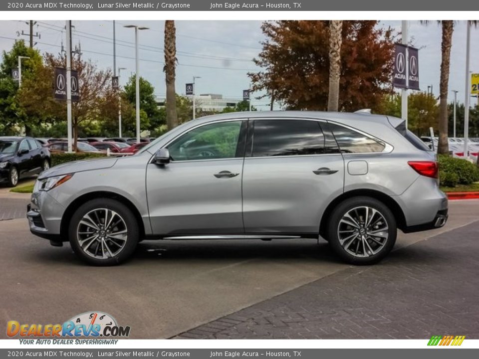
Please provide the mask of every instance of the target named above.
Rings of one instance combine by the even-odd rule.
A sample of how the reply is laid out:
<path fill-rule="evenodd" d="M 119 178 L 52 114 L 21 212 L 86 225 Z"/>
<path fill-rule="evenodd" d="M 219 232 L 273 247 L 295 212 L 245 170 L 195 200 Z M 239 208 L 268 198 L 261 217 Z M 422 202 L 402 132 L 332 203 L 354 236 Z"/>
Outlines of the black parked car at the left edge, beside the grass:
<path fill-rule="evenodd" d="M 0 182 L 14 187 L 18 179 L 50 168 L 50 152 L 31 137 L 0 137 Z"/>

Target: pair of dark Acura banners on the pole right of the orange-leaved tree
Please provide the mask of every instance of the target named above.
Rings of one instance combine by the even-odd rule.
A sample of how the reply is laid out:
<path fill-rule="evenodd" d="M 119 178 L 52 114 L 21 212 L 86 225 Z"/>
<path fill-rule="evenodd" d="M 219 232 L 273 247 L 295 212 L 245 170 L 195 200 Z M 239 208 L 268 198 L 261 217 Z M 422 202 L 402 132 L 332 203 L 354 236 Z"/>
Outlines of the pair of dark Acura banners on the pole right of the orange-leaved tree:
<path fill-rule="evenodd" d="M 395 44 L 393 86 L 419 90 L 419 51 L 415 47 Z"/>

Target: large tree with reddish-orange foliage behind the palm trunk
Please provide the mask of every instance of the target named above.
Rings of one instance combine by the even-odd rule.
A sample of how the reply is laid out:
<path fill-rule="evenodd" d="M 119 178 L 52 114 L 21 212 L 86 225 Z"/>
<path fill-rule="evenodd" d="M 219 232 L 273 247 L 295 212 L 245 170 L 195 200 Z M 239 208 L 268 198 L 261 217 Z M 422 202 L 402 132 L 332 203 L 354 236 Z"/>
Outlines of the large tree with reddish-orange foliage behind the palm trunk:
<path fill-rule="evenodd" d="M 394 35 L 378 21 L 343 21 L 339 111 L 377 108 L 392 92 Z M 288 109 L 328 107 L 329 21 L 281 20 L 261 25 L 266 40 L 258 58 L 263 70 L 248 73 L 252 91 L 274 94 Z"/>

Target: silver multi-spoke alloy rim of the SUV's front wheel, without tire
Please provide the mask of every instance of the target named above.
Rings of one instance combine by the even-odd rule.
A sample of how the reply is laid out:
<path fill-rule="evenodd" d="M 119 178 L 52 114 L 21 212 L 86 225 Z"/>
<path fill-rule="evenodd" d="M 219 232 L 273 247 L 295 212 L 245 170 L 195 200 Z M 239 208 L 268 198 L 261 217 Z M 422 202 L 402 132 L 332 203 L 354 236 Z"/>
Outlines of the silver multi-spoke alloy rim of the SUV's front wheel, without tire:
<path fill-rule="evenodd" d="M 78 223 L 76 234 L 83 252 L 98 259 L 116 256 L 128 240 L 125 220 L 108 208 L 86 213 Z"/>

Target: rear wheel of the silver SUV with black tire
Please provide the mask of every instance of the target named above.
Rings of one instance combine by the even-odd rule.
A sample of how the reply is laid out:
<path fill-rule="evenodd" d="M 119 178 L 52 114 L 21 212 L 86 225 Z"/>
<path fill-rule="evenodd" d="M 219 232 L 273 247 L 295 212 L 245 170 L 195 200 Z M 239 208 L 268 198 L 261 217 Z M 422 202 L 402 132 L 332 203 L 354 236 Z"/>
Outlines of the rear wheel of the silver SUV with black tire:
<path fill-rule="evenodd" d="M 366 207 L 369 208 L 367 212 Z M 343 217 L 349 213 L 357 221 L 350 221 L 349 218 L 345 218 L 344 221 Z M 366 227 L 361 221 L 366 216 L 368 219 L 371 218 L 371 215 L 370 226 Z M 376 222 L 375 225 L 373 225 L 374 222 Z M 359 224 L 359 226 L 356 228 L 349 223 Z M 387 238 L 384 239 L 383 236 L 386 233 Z M 383 202 L 367 196 L 352 197 L 334 208 L 329 218 L 326 235 L 334 252 L 347 263 L 374 264 L 383 259 L 394 247 L 397 237 L 396 219 Z M 341 239 L 340 236 L 342 236 Z M 348 239 L 351 238 L 349 236 L 352 239 Z"/>

